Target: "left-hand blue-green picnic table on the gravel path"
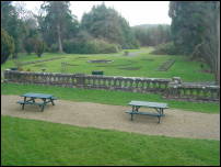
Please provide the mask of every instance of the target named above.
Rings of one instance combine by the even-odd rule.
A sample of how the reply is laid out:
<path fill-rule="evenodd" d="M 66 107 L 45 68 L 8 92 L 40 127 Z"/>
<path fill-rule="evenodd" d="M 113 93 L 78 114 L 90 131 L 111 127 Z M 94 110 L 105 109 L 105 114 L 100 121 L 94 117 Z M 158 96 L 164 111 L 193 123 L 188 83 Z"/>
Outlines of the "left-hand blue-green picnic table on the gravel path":
<path fill-rule="evenodd" d="M 18 101 L 18 103 L 22 104 L 22 110 L 24 110 L 25 104 L 34 104 L 34 105 L 39 105 L 42 108 L 40 111 L 44 111 L 44 108 L 47 103 L 51 102 L 53 105 L 55 105 L 54 100 L 57 100 L 56 97 L 53 94 L 45 94 L 45 93 L 24 93 L 20 97 L 24 97 L 23 101 Z M 43 102 L 36 102 L 36 99 L 40 99 Z"/>

